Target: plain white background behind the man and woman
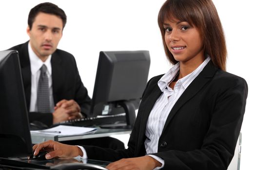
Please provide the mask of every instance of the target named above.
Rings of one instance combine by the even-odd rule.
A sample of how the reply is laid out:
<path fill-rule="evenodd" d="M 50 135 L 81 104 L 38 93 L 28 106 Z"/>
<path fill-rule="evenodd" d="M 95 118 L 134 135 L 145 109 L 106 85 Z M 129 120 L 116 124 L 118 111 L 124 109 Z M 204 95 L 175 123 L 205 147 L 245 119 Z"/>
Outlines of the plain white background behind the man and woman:
<path fill-rule="evenodd" d="M 165 73 L 157 16 L 165 0 L 49 0 L 62 8 L 67 25 L 59 49 L 74 54 L 79 73 L 92 96 L 99 51 L 149 50 L 149 78 Z M 254 0 L 213 0 L 226 36 L 227 71 L 243 77 L 249 86 L 242 125 L 240 170 L 256 170 L 256 8 Z M 27 17 L 42 0 L 0 2 L 0 51 L 28 40 Z M 128 136 L 118 136 L 127 143 Z"/>

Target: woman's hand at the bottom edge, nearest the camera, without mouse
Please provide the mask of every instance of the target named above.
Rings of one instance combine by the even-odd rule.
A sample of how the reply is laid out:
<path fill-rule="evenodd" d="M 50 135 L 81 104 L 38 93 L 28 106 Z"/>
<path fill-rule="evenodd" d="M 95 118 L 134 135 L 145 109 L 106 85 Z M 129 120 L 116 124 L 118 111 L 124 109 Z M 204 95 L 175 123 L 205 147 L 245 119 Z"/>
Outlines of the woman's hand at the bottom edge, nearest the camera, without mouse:
<path fill-rule="evenodd" d="M 110 163 L 106 169 L 108 170 L 153 170 L 161 167 L 161 163 L 151 156 L 141 156 L 136 158 L 120 159 Z"/>

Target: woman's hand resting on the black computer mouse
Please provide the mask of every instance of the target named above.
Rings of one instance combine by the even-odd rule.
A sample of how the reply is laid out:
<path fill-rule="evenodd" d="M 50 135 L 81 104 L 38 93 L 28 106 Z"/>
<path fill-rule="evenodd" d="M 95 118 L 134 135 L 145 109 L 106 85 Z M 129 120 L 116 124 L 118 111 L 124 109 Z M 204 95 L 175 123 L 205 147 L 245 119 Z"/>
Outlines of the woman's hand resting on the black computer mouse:
<path fill-rule="evenodd" d="M 46 159 L 54 157 L 71 158 L 78 155 L 83 156 L 81 149 L 77 146 L 62 144 L 53 140 L 48 140 L 33 146 L 34 155 L 40 151 L 47 151 Z"/>

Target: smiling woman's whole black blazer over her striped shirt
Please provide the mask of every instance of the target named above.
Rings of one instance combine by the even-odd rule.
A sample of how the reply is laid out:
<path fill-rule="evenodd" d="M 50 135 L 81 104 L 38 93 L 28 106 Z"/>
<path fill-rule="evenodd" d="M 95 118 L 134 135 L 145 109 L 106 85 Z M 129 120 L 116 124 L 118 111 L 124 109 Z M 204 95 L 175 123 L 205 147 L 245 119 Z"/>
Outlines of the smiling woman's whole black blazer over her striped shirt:
<path fill-rule="evenodd" d="M 161 91 L 159 75 L 144 91 L 128 149 L 84 146 L 89 159 L 116 161 L 145 155 L 147 119 Z M 247 98 L 244 79 L 210 61 L 172 108 L 158 142 L 163 170 L 226 170 L 234 155 Z"/>

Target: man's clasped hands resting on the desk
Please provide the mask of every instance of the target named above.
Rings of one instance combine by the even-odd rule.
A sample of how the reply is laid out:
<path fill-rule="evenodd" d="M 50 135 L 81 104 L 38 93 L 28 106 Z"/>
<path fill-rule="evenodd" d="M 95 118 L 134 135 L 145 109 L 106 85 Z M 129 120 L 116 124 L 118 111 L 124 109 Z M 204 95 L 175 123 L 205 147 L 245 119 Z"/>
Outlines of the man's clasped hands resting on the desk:
<path fill-rule="evenodd" d="M 74 100 L 61 100 L 54 107 L 53 123 L 82 118 L 79 104 Z"/>

